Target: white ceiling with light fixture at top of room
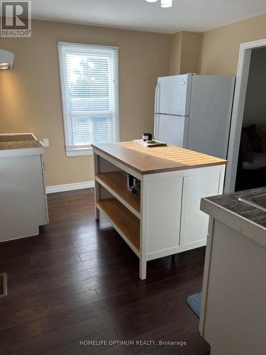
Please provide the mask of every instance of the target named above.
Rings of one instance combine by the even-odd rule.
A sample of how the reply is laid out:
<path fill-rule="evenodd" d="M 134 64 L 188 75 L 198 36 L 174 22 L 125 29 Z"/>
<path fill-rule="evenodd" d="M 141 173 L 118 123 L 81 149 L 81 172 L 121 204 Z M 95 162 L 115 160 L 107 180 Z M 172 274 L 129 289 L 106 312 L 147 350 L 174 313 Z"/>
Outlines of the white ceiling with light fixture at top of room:
<path fill-rule="evenodd" d="M 145 0 L 32 0 L 33 18 L 176 33 L 211 28 L 266 13 L 265 0 L 173 0 L 170 9 Z"/>

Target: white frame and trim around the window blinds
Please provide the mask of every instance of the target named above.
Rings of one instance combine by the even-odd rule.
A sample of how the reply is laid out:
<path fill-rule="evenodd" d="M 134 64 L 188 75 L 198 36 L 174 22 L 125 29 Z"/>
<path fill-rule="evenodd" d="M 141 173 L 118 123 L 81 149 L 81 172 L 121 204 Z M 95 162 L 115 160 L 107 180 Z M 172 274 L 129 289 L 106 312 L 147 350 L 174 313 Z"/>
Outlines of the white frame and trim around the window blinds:
<path fill-rule="evenodd" d="M 59 62 L 59 71 L 60 71 L 60 92 L 61 92 L 61 106 L 62 106 L 62 119 L 63 119 L 63 125 L 64 125 L 64 138 L 65 138 L 65 153 L 67 157 L 73 157 L 73 156 L 82 156 L 82 155 L 92 155 L 93 153 L 93 148 L 91 144 L 95 143 L 92 142 L 91 144 L 88 144 L 86 146 L 69 146 L 68 145 L 68 137 L 73 138 L 72 130 L 70 129 L 70 124 L 72 124 L 72 119 L 69 119 L 67 116 L 69 115 L 69 111 L 67 111 L 67 100 L 65 99 L 66 97 L 66 90 L 64 87 L 64 82 L 65 82 L 65 72 L 66 72 L 66 67 L 63 65 L 64 61 L 64 53 L 62 53 L 62 48 L 65 46 L 67 48 L 67 45 L 69 46 L 75 46 L 77 45 L 77 48 L 86 48 L 88 50 L 89 47 L 92 48 L 93 50 L 96 50 L 97 48 L 102 49 L 102 50 L 110 50 L 115 53 L 115 58 L 113 60 L 113 111 L 116 112 L 116 139 L 113 140 L 113 142 L 119 141 L 120 140 L 120 120 L 119 120 L 119 70 L 118 70 L 118 62 L 119 62 L 119 48 L 116 45 L 110 46 L 110 45 L 92 45 L 92 44 L 87 44 L 87 43 L 77 43 L 77 42 L 65 42 L 65 41 L 57 41 L 57 53 L 58 53 L 58 62 Z M 99 53 L 100 54 L 100 53 Z M 86 55 L 86 54 L 85 54 Z M 84 114 L 85 115 L 85 114 Z M 93 113 L 93 116 L 97 115 L 97 113 Z M 70 123 L 71 122 L 71 123 Z"/>

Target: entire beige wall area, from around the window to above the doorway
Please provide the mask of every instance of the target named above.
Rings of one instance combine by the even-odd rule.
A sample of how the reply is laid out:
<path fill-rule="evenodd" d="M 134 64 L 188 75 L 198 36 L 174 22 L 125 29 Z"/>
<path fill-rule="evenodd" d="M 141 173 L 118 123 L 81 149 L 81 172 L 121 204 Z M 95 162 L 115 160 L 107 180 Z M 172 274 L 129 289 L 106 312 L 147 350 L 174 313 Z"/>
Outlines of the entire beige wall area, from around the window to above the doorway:
<path fill-rule="evenodd" d="M 48 185 L 93 180 L 92 157 L 65 155 L 57 40 L 119 46 L 120 128 L 126 141 L 153 131 L 157 77 L 235 75 L 240 43 L 260 38 L 266 38 L 266 14 L 205 33 L 172 36 L 33 21 L 32 38 L 0 38 L 0 48 L 15 53 L 13 69 L 0 73 L 0 132 L 33 131 L 50 138 Z"/>

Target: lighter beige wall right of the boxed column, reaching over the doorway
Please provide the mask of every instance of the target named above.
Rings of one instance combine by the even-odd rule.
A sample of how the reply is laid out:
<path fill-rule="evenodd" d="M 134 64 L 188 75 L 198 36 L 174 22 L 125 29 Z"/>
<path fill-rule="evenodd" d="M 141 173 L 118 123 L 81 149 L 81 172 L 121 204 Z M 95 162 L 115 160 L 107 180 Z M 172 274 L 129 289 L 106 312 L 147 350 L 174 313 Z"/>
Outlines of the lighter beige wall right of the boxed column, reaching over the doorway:
<path fill-rule="evenodd" d="M 266 38 L 266 14 L 204 32 L 200 73 L 235 75 L 240 43 Z"/>

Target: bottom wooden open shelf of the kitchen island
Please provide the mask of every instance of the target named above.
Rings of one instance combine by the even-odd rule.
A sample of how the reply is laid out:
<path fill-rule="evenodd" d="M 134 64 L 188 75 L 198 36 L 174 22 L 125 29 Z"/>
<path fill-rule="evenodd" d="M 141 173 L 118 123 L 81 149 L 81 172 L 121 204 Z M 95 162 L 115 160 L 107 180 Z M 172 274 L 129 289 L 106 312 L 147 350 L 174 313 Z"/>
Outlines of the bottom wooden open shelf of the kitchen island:
<path fill-rule="evenodd" d="M 100 200 L 96 206 L 104 212 L 113 224 L 114 229 L 131 246 L 139 256 L 140 251 L 140 220 L 115 198 Z M 132 248 L 133 246 L 133 248 Z M 134 250 L 136 249 L 136 250 Z"/>

